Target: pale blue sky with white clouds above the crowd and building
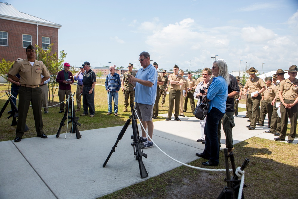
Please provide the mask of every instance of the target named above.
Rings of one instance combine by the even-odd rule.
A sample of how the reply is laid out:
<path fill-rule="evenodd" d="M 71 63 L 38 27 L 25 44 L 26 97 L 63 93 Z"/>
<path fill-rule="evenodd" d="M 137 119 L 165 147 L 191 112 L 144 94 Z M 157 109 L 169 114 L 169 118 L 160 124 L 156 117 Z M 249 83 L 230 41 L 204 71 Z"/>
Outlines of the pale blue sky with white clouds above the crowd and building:
<path fill-rule="evenodd" d="M 215 55 L 230 72 L 240 60 L 241 70 L 264 62 L 263 72 L 298 64 L 297 0 L 6 1 L 62 25 L 59 50 L 72 66 L 139 68 L 142 51 L 167 70 L 212 67 Z"/>

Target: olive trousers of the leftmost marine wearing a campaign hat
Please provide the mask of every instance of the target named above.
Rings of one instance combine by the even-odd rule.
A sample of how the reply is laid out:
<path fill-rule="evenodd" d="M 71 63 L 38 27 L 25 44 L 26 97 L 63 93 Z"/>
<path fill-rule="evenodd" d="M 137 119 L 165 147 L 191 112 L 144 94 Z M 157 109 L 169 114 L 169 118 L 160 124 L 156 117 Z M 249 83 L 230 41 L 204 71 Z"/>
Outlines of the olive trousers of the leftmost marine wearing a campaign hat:
<path fill-rule="evenodd" d="M 258 95 L 257 97 L 253 98 L 251 94 L 248 95 L 247 98 L 247 109 L 248 109 L 248 116 L 250 120 L 250 126 L 256 127 L 258 121 L 258 110 L 260 110 L 260 101 L 261 96 Z M 260 117 L 260 113 L 259 113 Z"/>

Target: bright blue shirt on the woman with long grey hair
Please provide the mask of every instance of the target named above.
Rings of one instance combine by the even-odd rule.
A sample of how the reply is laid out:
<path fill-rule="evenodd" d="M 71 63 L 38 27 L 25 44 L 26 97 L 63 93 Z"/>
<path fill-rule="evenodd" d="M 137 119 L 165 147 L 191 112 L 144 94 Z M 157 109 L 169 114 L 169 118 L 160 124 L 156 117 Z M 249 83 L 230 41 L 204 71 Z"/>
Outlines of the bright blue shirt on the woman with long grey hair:
<path fill-rule="evenodd" d="M 207 98 L 211 101 L 209 101 L 209 110 L 212 109 L 212 107 L 217 108 L 220 112 L 225 113 L 226 112 L 226 99 L 228 98 L 228 84 L 226 83 L 226 80 L 222 76 L 214 77 L 213 81 L 211 82 L 208 92 L 207 92 Z"/>

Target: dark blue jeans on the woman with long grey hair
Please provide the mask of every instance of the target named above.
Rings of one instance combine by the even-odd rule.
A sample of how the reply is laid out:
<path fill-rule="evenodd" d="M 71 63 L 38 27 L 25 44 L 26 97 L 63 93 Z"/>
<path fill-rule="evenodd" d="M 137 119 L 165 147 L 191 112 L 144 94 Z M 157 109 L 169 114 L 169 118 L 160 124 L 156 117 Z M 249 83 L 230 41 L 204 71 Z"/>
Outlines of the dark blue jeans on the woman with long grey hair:
<path fill-rule="evenodd" d="M 219 163 L 219 146 L 217 138 L 218 122 L 223 118 L 224 113 L 217 108 L 212 107 L 206 116 L 206 124 L 204 128 L 205 149 L 203 154 L 210 158 L 211 163 Z"/>

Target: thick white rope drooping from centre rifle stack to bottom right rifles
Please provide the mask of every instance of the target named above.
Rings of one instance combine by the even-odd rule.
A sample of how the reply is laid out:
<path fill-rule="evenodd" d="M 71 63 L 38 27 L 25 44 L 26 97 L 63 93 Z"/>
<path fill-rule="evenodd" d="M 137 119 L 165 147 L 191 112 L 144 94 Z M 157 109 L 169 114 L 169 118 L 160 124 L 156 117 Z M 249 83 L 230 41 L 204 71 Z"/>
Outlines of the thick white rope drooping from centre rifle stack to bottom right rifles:
<path fill-rule="evenodd" d="M 136 109 L 134 109 L 135 113 L 136 113 L 136 116 L 138 117 L 139 121 L 140 118 L 139 118 L 139 115 L 137 114 L 136 112 Z M 179 164 L 182 164 L 184 166 L 187 166 L 187 167 L 190 167 L 190 168 L 193 168 L 193 169 L 198 169 L 198 170 L 203 170 L 203 171 L 214 171 L 214 172 L 222 172 L 222 171 L 226 171 L 226 169 L 206 169 L 206 168 L 201 168 L 201 167 L 196 167 L 196 166 L 191 166 L 191 165 L 188 165 L 188 164 L 185 164 L 183 162 L 180 162 L 174 158 L 172 158 L 170 155 L 167 155 L 164 151 L 162 151 L 162 149 L 159 148 L 159 146 L 157 146 L 155 144 L 155 142 L 152 140 L 152 138 L 150 138 L 148 132 L 146 131 L 146 129 L 144 128 L 142 122 L 140 122 L 141 124 L 141 127 L 144 129 L 144 131 L 146 132 L 146 135 L 148 136 L 148 138 L 153 142 L 153 144 L 164 154 L 166 155 L 167 157 L 169 157 L 170 159 L 172 159 L 173 161 L 175 162 L 178 162 Z M 232 169 L 229 169 L 229 171 L 233 171 Z M 242 192 L 243 192 L 243 185 L 244 185 L 244 171 L 241 171 L 240 170 L 240 167 L 238 167 L 235 171 L 236 175 L 240 178 L 241 177 L 241 182 L 240 182 L 240 187 L 239 187 L 239 193 L 238 193 L 238 199 L 241 199 L 242 197 Z"/>

